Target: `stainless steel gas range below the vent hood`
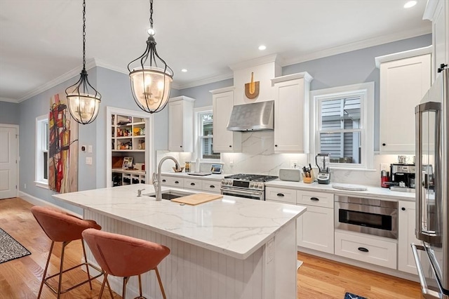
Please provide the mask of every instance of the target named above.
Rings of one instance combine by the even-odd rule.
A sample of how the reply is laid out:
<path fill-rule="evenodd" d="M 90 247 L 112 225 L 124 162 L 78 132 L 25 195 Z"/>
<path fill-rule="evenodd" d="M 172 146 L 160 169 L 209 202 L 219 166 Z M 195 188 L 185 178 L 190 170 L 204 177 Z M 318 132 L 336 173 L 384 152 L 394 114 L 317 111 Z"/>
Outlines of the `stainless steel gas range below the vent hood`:
<path fill-rule="evenodd" d="M 278 177 L 274 175 L 252 175 L 243 173 L 228 175 L 222 179 L 220 190 L 223 195 L 265 200 L 264 182 L 276 180 L 276 178 Z"/>

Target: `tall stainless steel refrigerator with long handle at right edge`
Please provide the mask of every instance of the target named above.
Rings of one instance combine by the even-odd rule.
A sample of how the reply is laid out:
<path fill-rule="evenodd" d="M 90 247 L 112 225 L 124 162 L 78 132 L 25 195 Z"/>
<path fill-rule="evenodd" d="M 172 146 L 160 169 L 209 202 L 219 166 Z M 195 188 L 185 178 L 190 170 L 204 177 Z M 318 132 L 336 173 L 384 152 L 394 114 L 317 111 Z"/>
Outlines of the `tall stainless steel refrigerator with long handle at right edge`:
<path fill-rule="evenodd" d="M 416 225 L 411 244 L 424 298 L 449 298 L 449 70 L 438 76 L 416 115 Z M 421 255 L 418 253 L 420 252 Z"/>

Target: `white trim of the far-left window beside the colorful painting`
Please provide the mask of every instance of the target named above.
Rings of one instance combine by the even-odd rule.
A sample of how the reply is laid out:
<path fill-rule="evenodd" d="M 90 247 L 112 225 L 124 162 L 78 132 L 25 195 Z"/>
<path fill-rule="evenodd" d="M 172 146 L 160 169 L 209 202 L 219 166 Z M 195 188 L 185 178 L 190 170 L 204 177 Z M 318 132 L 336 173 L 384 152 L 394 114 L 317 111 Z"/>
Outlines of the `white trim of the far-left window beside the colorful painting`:
<path fill-rule="evenodd" d="M 41 187 L 44 189 L 48 189 L 48 179 L 43 178 L 43 155 L 45 152 L 43 150 L 45 147 L 43 145 L 44 142 L 47 142 L 47 152 L 48 152 L 48 133 L 44 134 L 45 126 L 43 124 L 48 124 L 48 115 L 43 114 L 39 117 L 36 117 L 36 157 L 34 160 L 34 184 L 37 187 Z"/>

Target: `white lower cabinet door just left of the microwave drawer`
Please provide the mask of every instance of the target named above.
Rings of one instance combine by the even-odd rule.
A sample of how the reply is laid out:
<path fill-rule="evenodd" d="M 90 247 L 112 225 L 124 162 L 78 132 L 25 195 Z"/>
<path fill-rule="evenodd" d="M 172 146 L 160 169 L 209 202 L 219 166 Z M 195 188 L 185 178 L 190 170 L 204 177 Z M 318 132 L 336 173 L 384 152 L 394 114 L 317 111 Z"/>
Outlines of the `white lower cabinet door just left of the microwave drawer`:
<path fill-rule="evenodd" d="M 316 251 L 334 253 L 334 210 L 307 206 L 296 221 L 297 245 Z"/>

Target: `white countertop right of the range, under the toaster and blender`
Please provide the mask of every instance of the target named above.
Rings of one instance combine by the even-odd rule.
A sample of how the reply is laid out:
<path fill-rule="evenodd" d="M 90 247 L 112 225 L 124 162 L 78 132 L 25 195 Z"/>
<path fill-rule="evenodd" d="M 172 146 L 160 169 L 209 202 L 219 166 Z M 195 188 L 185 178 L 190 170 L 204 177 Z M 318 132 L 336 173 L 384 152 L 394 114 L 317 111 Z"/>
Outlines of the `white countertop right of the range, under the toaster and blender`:
<path fill-rule="evenodd" d="M 366 191 L 349 191 L 339 190 L 332 187 L 332 182 L 329 185 L 319 184 L 318 182 L 312 182 L 307 184 L 305 182 L 290 182 L 286 180 L 271 180 L 265 183 L 267 187 L 278 188 L 292 188 L 296 190 L 313 190 L 316 192 L 328 192 L 334 194 L 342 194 L 349 196 L 361 196 L 370 198 L 381 198 L 389 200 L 406 200 L 415 201 L 415 193 L 391 191 L 388 188 L 365 186 L 368 189 Z"/>

